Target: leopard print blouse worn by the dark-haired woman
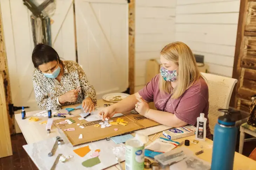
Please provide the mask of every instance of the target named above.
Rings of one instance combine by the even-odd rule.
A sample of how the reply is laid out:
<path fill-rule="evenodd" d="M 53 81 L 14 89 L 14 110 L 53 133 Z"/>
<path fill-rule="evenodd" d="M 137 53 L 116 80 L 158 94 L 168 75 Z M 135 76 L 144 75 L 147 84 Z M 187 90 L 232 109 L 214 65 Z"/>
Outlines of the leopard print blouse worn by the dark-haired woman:
<path fill-rule="evenodd" d="M 74 61 L 62 61 L 62 63 L 64 71 L 60 82 L 56 79 L 47 78 L 39 69 L 35 68 L 33 85 L 38 106 L 42 110 L 59 110 L 61 106 L 58 104 L 57 98 L 70 90 L 76 89 L 78 86 L 81 87 L 81 90 L 78 93 L 76 102 L 66 102 L 63 105 L 82 103 L 86 97 L 90 97 L 96 105 L 96 92 L 93 86 L 89 84 L 85 72 L 79 64 Z"/>

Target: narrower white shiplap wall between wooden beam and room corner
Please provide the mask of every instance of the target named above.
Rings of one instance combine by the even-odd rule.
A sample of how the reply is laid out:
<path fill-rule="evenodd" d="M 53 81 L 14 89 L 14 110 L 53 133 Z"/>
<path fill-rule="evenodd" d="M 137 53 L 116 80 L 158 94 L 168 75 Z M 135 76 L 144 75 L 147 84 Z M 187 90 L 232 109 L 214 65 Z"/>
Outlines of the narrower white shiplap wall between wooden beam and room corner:
<path fill-rule="evenodd" d="M 135 92 L 145 85 L 146 62 L 158 59 L 164 45 L 175 41 L 177 0 L 136 0 Z"/>

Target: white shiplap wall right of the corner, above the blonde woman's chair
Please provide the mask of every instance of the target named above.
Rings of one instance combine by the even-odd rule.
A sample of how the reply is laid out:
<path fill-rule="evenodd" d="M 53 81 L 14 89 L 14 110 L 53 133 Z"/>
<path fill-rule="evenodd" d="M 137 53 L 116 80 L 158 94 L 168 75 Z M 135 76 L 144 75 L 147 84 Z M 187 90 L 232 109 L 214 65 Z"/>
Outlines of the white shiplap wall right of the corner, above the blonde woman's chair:
<path fill-rule="evenodd" d="M 177 0 L 176 41 L 204 55 L 209 72 L 232 77 L 240 0 Z"/>

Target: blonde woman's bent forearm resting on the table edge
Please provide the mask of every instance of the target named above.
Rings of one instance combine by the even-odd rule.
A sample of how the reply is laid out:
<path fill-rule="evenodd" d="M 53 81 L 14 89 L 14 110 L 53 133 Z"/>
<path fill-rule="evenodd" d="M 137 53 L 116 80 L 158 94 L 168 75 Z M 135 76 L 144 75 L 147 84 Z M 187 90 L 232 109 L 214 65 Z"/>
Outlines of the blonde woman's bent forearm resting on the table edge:
<path fill-rule="evenodd" d="M 171 127 L 181 127 L 187 125 L 187 123 L 178 119 L 173 113 L 163 112 L 159 110 L 149 109 L 145 117 L 154 120 L 162 125 Z"/>

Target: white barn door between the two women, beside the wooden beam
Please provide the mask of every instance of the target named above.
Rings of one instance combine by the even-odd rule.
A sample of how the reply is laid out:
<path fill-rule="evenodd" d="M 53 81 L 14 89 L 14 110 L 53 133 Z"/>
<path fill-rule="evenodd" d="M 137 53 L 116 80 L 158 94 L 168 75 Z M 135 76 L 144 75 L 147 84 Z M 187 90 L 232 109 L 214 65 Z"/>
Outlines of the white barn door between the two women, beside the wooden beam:
<path fill-rule="evenodd" d="M 128 87 L 128 3 L 75 0 L 78 63 L 97 98 Z"/>

